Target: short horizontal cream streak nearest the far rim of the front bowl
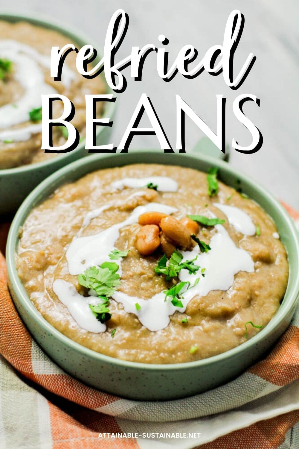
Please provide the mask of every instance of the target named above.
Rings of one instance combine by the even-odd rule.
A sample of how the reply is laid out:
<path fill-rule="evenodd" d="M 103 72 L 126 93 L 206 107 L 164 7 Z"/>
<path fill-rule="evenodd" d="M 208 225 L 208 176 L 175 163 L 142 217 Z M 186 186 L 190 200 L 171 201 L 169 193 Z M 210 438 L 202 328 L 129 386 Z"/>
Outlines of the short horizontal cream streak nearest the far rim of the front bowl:
<path fill-rule="evenodd" d="M 114 189 L 122 190 L 125 187 L 131 187 L 133 189 L 139 189 L 140 187 L 146 187 L 151 183 L 157 185 L 159 192 L 176 192 L 178 190 L 178 183 L 168 176 L 147 176 L 146 178 L 122 178 L 117 181 L 113 181 L 111 186 Z"/>

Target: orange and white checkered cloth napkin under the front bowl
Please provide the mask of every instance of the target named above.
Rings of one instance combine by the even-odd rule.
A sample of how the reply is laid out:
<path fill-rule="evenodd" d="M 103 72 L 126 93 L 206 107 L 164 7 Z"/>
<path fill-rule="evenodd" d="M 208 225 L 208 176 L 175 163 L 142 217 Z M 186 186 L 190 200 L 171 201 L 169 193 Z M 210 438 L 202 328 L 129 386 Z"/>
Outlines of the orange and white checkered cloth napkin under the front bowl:
<path fill-rule="evenodd" d="M 87 387 L 39 348 L 0 255 L 0 353 L 1 448 L 299 448 L 299 309 L 272 352 L 232 382 L 176 401 L 130 401 Z M 128 432 L 141 436 L 113 435 Z"/>

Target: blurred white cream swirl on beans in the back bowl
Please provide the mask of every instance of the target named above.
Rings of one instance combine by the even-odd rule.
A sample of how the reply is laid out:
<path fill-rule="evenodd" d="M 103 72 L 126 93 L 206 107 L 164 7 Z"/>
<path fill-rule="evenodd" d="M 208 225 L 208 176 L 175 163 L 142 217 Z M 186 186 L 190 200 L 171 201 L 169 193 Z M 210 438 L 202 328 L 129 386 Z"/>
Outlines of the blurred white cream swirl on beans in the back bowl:
<path fill-rule="evenodd" d="M 0 57 L 13 62 L 14 79 L 24 89 L 19 100 L 0 107 L 0 129 L 5 130 L 0 131 L 0 141 L 26 141 L 32 134 L 41 132 L 41 123 L 30 124 L 18 129 L 7 128 L 28 122 L 30 110 L 41 106 L 41 94 L 57 92 L 44 79 L 43 68 L 50 68 L 50 58 L 40 54 L 30 45 L 10 39 L 0 40 Z M 73 70 L 64 65 L 62 84 L 68 88 L 74 77 Z"/>

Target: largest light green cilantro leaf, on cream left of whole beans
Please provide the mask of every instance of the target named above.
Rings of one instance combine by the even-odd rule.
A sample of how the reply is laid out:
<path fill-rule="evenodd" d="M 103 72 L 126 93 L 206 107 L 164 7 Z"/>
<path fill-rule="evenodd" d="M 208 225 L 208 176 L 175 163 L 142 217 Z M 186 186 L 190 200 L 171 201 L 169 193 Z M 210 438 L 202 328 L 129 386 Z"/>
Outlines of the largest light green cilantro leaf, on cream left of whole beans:
<path fill-rule="evenodd" d="M 117 274 L 119 266 L 115 262 L 104 262 L 99 267 L 91 267 L 78 276 L 79 284 L 92 289 L 99 296 L 111 296 L 120 285 Z"/>

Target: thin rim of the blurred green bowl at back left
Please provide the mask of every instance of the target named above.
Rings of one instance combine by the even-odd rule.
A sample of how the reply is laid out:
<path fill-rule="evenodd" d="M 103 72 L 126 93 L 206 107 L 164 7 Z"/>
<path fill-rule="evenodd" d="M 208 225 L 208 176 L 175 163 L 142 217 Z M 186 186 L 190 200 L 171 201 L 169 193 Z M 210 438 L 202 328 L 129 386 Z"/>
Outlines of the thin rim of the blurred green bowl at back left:
<path fill-rule="evenodd" d="M 56 18 L 53 18 L 53 23 L 50 22 L 51 18 L 47 18 L 44 17 L 42 14 L 34 14 L 34 17 L 27 15 L 26 13 L 22 13 L 22 14 L 16 14 L 16 13 L 10 13 L 9 11 L 0 11 L 0 20 L 4 20 L 6 22 L 30 22 L 32 25 L 36 25 L 36 26 L 42 26 L 44 28 L 53 30 L 53 31 L 57 31 L 63 35 L 65 35 L 66 37 L 69 37 L 72 40 L 72 43 L 77 43 L 80 44 L 80 46 L 83 45 L 83 43 L 85 44 L 91 44 L 94 48 L 97 49 L 97 57 L 95 59 L 96 62 L 98 62 L 101 58 L 101 55 L 103 54 L 103 52 L 100 50 L 99 51 L 99 46 L 97 44 L 95 44 L 92 40 L 89 39 L 88 36 L 86 36 L 83 33 L 79 33 L 78 31 L 73 29 L 71 26 L 67 25 L 63 25 L 59 20 L 56 20 Z M 106 86 L 106 94 L 115 94 L 115 92 L 108 86 L 106 78 L 104 76 L 104 72 L 102 72 L 100 74 L 101 79 L 104 81 L 104 84 Z M 109 119 L 112 119 L 114 114 L 115 114 L 115 109 L 117 107 L 116 105 L 116 101 L 106 101 L 104 102 L 105 106 L 104 106 L 104 114 L 107 115 L 107 117 L 109 117 Z M 96 136 L 98 137 L 102 132 L 104 132 L 104 126 L 98 127 L 98 131 L 96 133 Z M 68 152 L 68 153 L 58 153 L 56 156 L 63 158 L 63 159 L 67 159 L 67 157 L 74 152 L 79 152 L 81 150 L 83 150 L 83 148 L 85 147 L 85 138 L 82 140 L 82 142 L 80 142 L 78 144 L 78 146 L 72 151 L 72 152 Z M 87 153 L 88 154 L 88 153 Z M 53 158 L 53 159 L 46 159 L 44 161 L 41 162 L 36 162 L 33 164 L 26 164 L 26 165 L 21 165 L 20 167 L 13 167 L 13 168 L 2 168 L 0 169 L 0 176 L 5 176 L 5 175 L 14 175 L 14 174 L 22 174 L 25 172 L 30 172 L 31 170 L 39 170 L 39 168 L 42 167 L 46 167 L 48 165 L 51 164 L 55 164 L 57 163 L 57 158 Z"/>

